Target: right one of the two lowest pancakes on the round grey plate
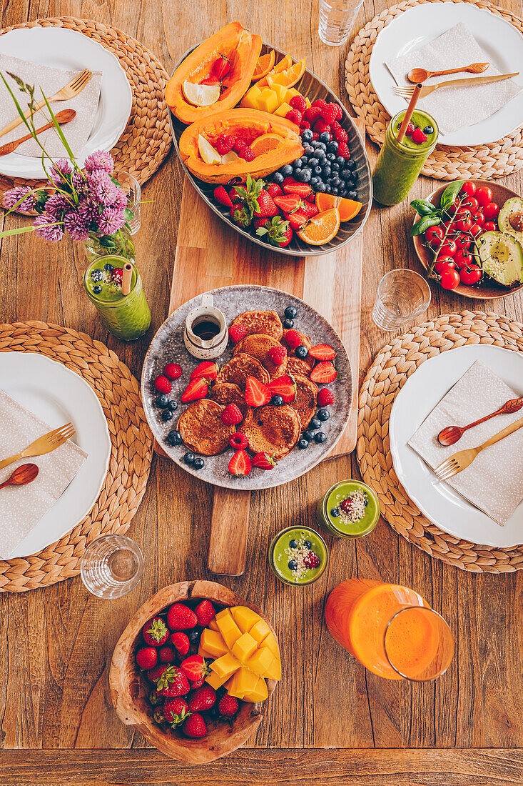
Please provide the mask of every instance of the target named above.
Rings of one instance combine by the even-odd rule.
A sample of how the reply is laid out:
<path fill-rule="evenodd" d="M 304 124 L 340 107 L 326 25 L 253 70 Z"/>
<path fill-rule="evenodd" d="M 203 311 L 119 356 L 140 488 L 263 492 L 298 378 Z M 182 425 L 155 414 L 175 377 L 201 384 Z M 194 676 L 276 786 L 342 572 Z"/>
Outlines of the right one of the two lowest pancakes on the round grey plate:
<path fill-rule="evenodd" d="M 298 413 L 288 404 L 258 406 L 251 410 L 240 428 L 254 453 L 265 450 L 279 461 L 291 453 L 301 432 Z"/>

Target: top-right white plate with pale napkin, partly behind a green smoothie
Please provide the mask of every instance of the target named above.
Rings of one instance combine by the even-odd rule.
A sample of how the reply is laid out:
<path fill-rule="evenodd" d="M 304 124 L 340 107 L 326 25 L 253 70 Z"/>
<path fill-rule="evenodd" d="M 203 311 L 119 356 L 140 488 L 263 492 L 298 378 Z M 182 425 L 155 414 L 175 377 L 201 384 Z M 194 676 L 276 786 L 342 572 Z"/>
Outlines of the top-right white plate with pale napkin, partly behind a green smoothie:
<path fill-rule="evenodd" d="M 442 35 L 444 38 L 437 41 Z M 408 9 L 379 33 L 369 75 L 382 105 L 394 116 L 407 102 L 395 95 L 393 88 L 411 84 L 406 79 L 411 68 L 439 71 L 485 61 L 491 65 L 482 74 L 438 76 L 425 84 L 498 73 L 520 75 L 470 89 L 437 90 L 419 101 L 419 107 L 430 113 L 430 105 L 434 105 L 433 116 L 441 127 L 438 144 L 485 145 L 512 133 L 523 122 L 523 36 L 503 17 L 467 2 L 426 2 Z M 483 91 L 485 101 L 477 97 L 478 90 Z M 459 112 L 448 111 L 452 94 L 459 102 Z M 442 112 L 439 118 L 438 108 Z"/>

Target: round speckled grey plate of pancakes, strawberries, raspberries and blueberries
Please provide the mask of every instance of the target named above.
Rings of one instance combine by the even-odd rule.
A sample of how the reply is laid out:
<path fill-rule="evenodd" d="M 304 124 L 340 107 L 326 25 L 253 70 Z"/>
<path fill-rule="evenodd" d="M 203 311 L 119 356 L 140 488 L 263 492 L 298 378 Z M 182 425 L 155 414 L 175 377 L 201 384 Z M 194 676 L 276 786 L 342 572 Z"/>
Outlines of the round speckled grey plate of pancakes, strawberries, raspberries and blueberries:
<path fill-rule="evenodd" d="M 209 299 L 226 333 L 207 360 L 189 353 L 185 331 Z M 326 457 L 346 426 L 352 388 L 331 325 L 297 297 L 254 285 L 215 289 L 174 311 L 141 380 L 145 416 L 166 454 L 208 483 L 241 490 L 288 483 Z"/>

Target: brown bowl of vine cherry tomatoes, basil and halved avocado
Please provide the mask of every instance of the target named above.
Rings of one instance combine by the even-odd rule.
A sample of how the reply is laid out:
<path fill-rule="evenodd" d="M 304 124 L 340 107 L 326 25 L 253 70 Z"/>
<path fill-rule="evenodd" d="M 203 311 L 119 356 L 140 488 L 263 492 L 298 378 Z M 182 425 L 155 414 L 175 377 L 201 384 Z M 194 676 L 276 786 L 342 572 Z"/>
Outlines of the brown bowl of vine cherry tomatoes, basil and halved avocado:
<path fill-rule="evenodd" d="M 428 277 L 475 299 L 523 288 L 523 199 L 491 180 L 455 181 L 414 200 L 415 252 Z"/>

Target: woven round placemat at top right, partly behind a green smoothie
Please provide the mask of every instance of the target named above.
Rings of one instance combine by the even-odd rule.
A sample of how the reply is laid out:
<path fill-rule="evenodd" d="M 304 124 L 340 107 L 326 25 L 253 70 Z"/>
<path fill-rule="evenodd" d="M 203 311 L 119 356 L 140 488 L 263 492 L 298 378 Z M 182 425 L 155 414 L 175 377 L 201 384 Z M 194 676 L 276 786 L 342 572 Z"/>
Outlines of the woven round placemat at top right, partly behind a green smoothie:
<path fill-rule="evenodd" d="M 378 145 L 385 139 L 390 114 L 379 101 L 371 85 L 368 64 L 372 47 L 379 32 L 390 24 L 398 14 L 419 6 L 422 2 L 448 2 L 448 0 L 404 0 L 379 13 L 361 28 L 350 47 L 345 64 L 346 88 L 350 103 L 357 116 L 364 120 L 367 133 Z M 510 11 L 496 8 L 483 0 L 451 0 L 451 2 L 470 2 L 485 9 L 496 17 L 503 17 L 523 33 L 523 20 Z M 475 147 L 451 147 L 437 145 L 427 158 L 422 174 L 438 180 L 459 178 L 501 178 L 504 174 L 518 171 L 523 166 L 523 126 L 499 141 Z"/>

